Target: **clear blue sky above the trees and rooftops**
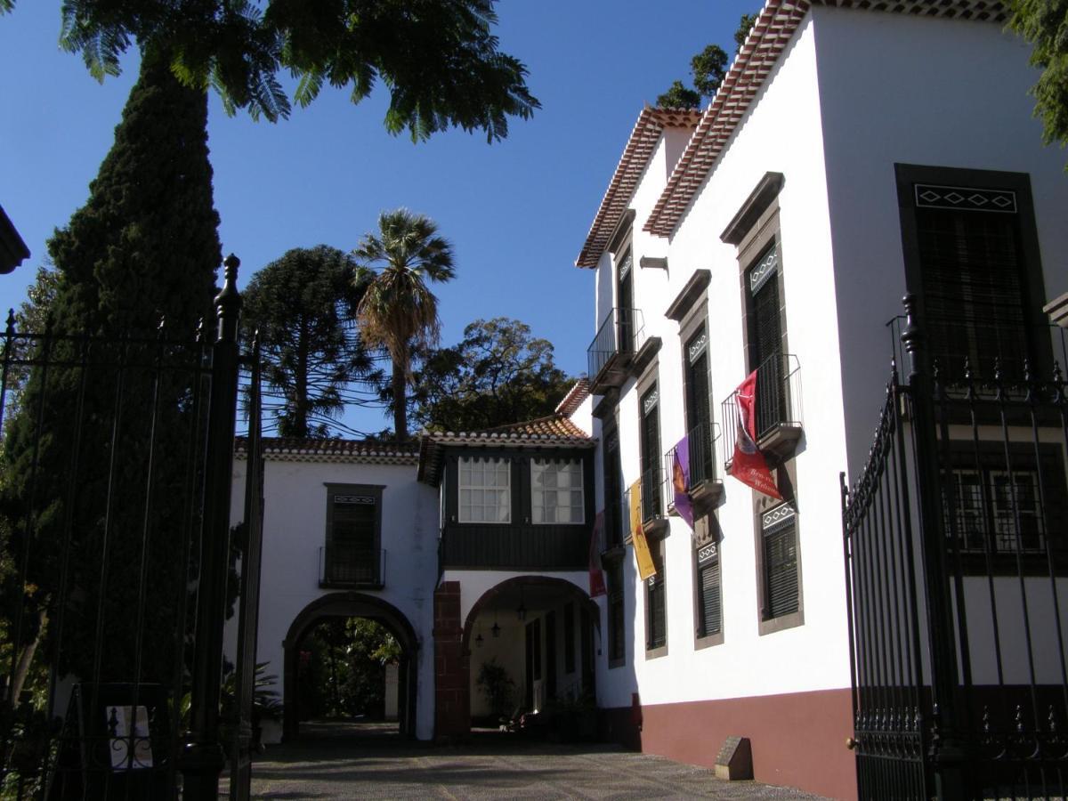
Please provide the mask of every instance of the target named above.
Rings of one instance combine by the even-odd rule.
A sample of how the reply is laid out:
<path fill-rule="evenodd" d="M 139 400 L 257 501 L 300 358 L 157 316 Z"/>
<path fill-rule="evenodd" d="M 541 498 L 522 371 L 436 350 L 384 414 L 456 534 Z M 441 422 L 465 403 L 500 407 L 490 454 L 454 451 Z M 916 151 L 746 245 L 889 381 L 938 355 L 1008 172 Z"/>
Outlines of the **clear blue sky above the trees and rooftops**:
<path fill-rule="evenodd" d="M 530 68 L 543 108 L 492 145 L 462 131 L 419 144 L 392 137 L 381 125 L 384 93 L 354 106 L 346 92 L 325 90 L 274 125 L 229 117 L 213 98 L 223 251 L 240 256 L 244 285 L 289 248 L 351 249 L 379 210 L 407 206 L 454 245 L 457 278 L 436 289 L 443 344 L 475 318 L 516 317 L 577 375 L 596 321 L 593 273 L 574 262 L 634 120 L 672 80 L 689 81 L 690 58 L 706 44 L 733 52 L 739 16 L 760 4 L 499 2 L 501 47 Z M 0 205 L 32 253 L 0 277 L 2 309 L 25 298 L 46 239 L 84 203 L 137 77 L 130 59 L 119 78 L 93 80 L 57 45 L 59 7 L 18 0 L 0 17 Z"/>

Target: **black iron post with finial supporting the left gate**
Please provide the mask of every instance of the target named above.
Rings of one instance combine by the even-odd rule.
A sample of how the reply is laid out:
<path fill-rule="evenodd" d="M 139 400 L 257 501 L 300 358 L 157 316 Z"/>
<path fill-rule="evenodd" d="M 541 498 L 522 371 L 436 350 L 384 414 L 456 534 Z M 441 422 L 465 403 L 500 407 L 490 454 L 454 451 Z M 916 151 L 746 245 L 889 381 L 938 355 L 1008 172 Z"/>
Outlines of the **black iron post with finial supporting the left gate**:
<path fill-rule="evenodd" d="M 187 801 L 218 799 L 219 775 L 225 761 L 219 742 L 219 689 L 229 572 L 231 473 L 237 413 L 237 328 L 241 297 L 237 292 L 240 262 L 231 254 L 223 266 L 222 290 L 215 298 L 217 328 L 211 348 L 211 397 L 190 690 L 191 722 L 180 758 L 183 798 Z"/>

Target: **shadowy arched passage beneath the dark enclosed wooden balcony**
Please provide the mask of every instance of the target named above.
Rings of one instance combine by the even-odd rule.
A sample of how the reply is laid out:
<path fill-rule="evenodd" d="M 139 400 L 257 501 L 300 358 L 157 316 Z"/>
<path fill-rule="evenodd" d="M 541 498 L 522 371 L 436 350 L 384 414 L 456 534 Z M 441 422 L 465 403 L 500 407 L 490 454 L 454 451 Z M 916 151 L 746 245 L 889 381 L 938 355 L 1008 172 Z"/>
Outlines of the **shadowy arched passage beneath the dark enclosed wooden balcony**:
<path fill-rule="evenodd" d="M 594 698 L 599 632 L 596 602 L 570 581 L 517 576 L 487 590 L 464 623 L 472 725 L 496 728 L 502 711 L 511 717 L 549 702 Z M 482 668 L 490 661 L 514 687 L 507 710 L 492 708 L 478 687 Z"/>

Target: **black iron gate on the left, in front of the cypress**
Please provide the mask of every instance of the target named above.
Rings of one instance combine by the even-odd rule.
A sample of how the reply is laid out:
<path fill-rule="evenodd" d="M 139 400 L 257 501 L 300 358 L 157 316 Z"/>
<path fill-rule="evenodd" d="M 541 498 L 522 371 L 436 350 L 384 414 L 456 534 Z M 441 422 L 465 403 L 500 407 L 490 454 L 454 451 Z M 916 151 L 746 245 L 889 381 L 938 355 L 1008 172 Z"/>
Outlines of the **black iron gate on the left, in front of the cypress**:
<path fill-rule="evenodd" d="M 15 330 L 0 423 L 0 799 L 248 798 L 258 601 L 257 352 L 238 261 L 213 336 Z M 231 531 L 240 366 L 245 522 Z M 224 622 L 238 613 L 223 688 Z M 231 655 L 232 657 L 235 655 Z M 233 689 L 231 689 L 233 688 Z"/>

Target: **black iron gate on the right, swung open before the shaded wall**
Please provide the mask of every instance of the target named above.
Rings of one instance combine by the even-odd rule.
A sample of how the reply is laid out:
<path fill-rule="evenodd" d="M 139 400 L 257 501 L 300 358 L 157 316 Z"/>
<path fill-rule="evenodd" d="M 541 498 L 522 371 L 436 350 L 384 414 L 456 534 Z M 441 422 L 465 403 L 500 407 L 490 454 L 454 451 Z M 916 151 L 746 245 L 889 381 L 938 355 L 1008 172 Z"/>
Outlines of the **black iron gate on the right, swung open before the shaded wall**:
<path fill-rule="evenodd" d="M 907 381 L 843 476 L 859 795 L 1065 798 L 1068 384 L 1049 359 L 944 379 L 906 311 Z"/>

